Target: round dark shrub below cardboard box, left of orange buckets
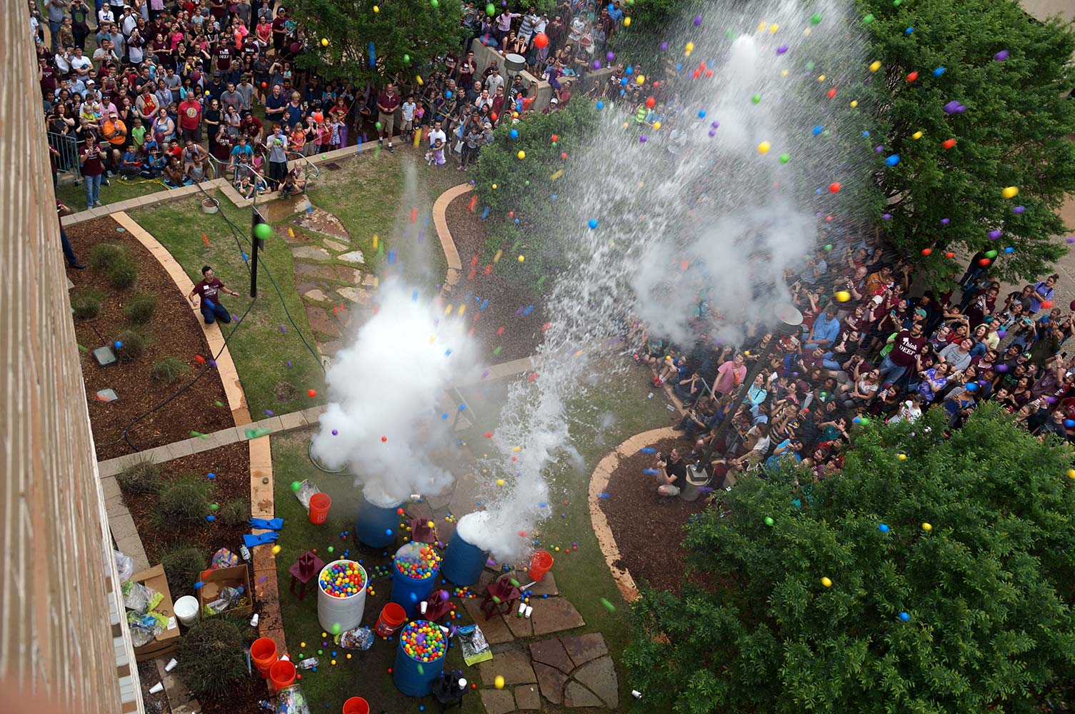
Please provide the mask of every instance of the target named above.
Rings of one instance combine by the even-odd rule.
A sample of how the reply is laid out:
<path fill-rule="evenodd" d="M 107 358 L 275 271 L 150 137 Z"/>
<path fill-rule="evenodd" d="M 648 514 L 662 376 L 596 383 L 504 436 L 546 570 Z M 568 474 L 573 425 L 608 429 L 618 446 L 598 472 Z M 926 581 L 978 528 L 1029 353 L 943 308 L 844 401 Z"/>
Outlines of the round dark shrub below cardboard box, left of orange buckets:
<path fill-rule="evenodd" d="M 245 649 L 238 623 L 220 616 L 202 620 L 180 641 L 180 676 L 196 697 L 223 697 L 246 676 Z"/>

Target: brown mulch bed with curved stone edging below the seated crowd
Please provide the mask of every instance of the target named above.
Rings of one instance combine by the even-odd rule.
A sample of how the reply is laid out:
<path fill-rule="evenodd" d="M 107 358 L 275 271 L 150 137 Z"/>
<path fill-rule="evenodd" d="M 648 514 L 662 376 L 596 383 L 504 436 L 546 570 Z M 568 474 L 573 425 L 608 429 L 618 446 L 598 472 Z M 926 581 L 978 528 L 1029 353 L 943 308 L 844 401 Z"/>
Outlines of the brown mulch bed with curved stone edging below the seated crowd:
<path fill-rule="evenodd" d="M 658 453 L 672 447 L 690 451 L 682 439 L 662 439 L 650 444 Z M 687 551 L 680 545 L 683 526 L 692 514 L 705 511 L 705 497 L 688 502 L 657 495 L 654 477 L 642 473 L 654 469 L 654 454 L 633 454 L 620 460 L 608 480 L 608 498 L 600 499 L 619 547 L 618 568 L 627 568 L 635 582 L 646 581 L 658 590 L 679 594 Z"/>

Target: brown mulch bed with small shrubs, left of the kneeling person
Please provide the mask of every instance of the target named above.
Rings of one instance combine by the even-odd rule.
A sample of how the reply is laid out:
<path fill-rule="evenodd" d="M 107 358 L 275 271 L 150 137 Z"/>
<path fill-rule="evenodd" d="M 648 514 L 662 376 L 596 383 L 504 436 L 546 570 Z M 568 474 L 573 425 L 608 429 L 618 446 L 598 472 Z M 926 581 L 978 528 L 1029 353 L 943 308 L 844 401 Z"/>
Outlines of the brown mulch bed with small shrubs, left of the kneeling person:
<path fill-rule="evenodd" d="M 86 266 L 86 270 L 67 271 L 74 283 L 74 290 L 94 288 L 104 296 L 104 308 L 97 317 L 74 320 L 80 345 L 88 351 L 111 345 L 119 331 L 128 327 L 124 317 L 126 302 L 138 292 L 157 297 L 156 312 L 149 324 L 143 327 L 149 341 L 142 357 L 102 368 L 88 352 L 80 354 L 97 458 L 101 460 L 135 451 L 124 440 L 127 425 L 157 406 L 204 369 L 195 355 L 206 360 L 212 357 L 198 318 L 191 313 L 185 296 L 180 294 L 156 258 L 129 233 L 117 231 L 119 227 L 111 217 L 105 217 L 75 224 L 67 229 L 75 255 Z M 106 274 L 89 267 L 90 249 L 98 243 L 120 243 L 127 247 L 139 271 L 138 286 L 133 290 L 112 287 Z M 187 365 L 187 376 L 167 386 L 150 380 L 153 363 L 164 357 L 176 357 Z M 97 392 L 105 387 L 115 389 L 119 399 L 113 402 L 99 400 Z M 225 406 L 215 406 L 217 401 Z M 231 426 L 234 426 L 234 420 L 227 408 L 224 384 L 220 375 L 211 370 L 166 406 L 139 422 L 131 428 L 129 438 L 139 449 L 147 449 L 189 439 L 191 431 L 210 433 Z"/>

